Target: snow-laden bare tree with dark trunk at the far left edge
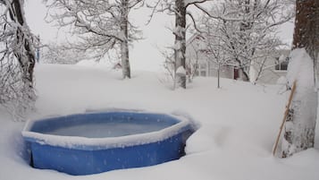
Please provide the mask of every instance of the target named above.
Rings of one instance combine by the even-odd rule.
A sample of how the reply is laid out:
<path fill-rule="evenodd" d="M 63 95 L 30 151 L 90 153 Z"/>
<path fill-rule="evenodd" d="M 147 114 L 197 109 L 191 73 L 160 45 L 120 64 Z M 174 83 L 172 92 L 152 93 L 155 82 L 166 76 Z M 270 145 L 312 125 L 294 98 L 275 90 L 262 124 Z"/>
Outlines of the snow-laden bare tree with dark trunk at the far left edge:
<path fill-rule="evenodd" d="M 15 117 L 34 107 L 34 37 L 23 0 L 0 1 L 0 105 Z"/>

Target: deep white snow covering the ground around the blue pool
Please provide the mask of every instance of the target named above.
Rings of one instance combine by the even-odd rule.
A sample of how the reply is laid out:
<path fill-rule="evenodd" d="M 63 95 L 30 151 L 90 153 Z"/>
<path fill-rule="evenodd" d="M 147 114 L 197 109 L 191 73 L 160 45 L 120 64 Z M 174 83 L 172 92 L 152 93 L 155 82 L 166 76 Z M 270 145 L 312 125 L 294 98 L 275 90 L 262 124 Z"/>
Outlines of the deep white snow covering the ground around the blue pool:
<path fill-rule="evenodd" d="M 0 180 L 152 179 L 152 180 L 317 180 L 319 147 L 290 159 L 271 155 L 287 94 L 281 86 L 197 78 L 188 90 L 170 90 L 163 76 L 137 72 L 120 80 L 121 72 L 104 67 L 40 64 L 36 69 L 38 111 L 31 119 L 67 115 L 88 109 L 128 108 L 179 112 L 201 125 L 188 141 L 188 155 L 154 167 L 116 170 L 93 176 L 69 176 L 33 169 L 26 163 L 22 122 L 0 111 Z M 319 133 L 317 128 L 317 134 Z M 319 138 L 317 138 L 318 140 Z M 306 167 L 306 168 L 305 168 Z"/>

